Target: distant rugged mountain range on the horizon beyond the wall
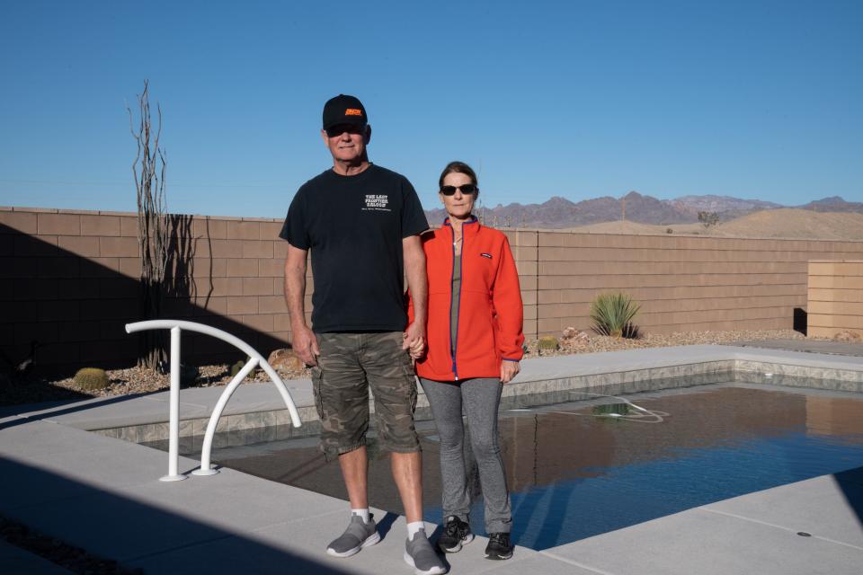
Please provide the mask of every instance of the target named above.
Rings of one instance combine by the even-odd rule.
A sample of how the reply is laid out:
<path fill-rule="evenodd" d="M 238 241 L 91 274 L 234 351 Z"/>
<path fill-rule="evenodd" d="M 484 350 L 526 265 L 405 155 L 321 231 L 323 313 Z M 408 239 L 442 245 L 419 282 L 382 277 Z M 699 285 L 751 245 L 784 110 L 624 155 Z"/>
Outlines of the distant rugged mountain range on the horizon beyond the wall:
<path fill-rule="evenodd" d="M 730 196 L 682 196 L 656 199 L 630 191 L 621 198 L 605 196 L 573 202 L 555 196 L 541 204 L 498 204 L 494 208 L 479 206 L 474 211 L 490 226 L 539 227 L 560 229 L 587 226 L 601 222 L 627 220 L 641 224 L 666 226 L 698 222 L 698 212 L 715 213 L 719 221 L 728 221 L 765 209 L 798 208 L 817 212 L 857 212 L 863 214 L 863 202 L 850 202 L 839 196 L 817 199 L 803 206 L 782 206 L 760 199 Z M 442 208 L 425 211 L 432 225 L 446 217 Z"/>

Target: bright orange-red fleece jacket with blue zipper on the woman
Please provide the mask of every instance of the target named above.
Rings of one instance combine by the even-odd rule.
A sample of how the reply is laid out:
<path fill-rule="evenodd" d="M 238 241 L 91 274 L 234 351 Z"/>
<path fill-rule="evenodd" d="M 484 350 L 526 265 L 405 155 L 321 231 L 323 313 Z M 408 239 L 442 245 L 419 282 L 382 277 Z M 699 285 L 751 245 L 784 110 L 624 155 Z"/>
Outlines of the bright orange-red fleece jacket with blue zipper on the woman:
<path fill-rule="evenodd" d="M 524 354 L 519 273 L 510 243 L 476 217 L 463 224 L 458 332 L 450 341 L 452 242 L 449 218 L 440 229 L 423 234 L 429 278 L 428 347 L 416 362 L 416 373 L 438 381 L 500 377 L 501 361 L 520 361 Z M 411 321 L 413 311 L 409 305 Z"/>

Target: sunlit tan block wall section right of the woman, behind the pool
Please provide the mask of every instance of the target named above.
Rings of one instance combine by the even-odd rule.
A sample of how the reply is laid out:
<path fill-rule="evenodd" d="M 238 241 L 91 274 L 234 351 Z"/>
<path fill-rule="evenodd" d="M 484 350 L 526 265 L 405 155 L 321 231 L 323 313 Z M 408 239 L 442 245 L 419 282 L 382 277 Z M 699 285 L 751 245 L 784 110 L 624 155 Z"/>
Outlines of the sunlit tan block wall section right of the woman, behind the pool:
<path fill-rule="evenodd" d="M 534 336 L 589 329 L 591 301 L 606 291 L 626 292 L 641 305 L 636 324 L 643 332 L 791 329 L 805 316 L 808 261 L 863 254 L 861 242 L 527 230 L 509 236 L 518 252 L 525 332 Z"/>

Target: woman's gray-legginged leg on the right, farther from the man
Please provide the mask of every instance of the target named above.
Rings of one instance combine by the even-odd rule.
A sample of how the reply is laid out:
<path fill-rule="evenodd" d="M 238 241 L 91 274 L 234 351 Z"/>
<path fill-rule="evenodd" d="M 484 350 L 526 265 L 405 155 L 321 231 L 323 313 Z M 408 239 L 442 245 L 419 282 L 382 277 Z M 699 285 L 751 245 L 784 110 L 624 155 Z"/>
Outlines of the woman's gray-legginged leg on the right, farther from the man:
<path fill-rule="evenodd" d="M 501 381 L 493 377 L 477 377 L 461 385 L 471 446 L 483 486 L 485 531 L 488 533 L 509 533 L 512 529 L 510 493 L 497 441 L 497 408 L 502 391 Z"/>

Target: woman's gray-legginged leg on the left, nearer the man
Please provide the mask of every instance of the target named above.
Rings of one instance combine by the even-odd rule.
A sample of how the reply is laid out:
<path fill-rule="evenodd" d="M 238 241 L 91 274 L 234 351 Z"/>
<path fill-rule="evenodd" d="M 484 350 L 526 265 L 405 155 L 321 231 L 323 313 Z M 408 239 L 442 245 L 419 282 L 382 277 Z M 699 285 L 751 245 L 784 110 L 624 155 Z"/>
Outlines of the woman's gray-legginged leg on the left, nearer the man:
<path fill-rule="evenodd" d="M 458 385 L 420 378 L 429 399 L 434 425 L 440 437 L 440 475 L 443 483 L 443 517 L 454 515 L 467 521 L 470 497 L 465 477 L 465 428 L 461 419 L 461 391 Z"/>

